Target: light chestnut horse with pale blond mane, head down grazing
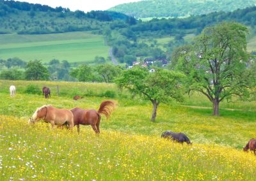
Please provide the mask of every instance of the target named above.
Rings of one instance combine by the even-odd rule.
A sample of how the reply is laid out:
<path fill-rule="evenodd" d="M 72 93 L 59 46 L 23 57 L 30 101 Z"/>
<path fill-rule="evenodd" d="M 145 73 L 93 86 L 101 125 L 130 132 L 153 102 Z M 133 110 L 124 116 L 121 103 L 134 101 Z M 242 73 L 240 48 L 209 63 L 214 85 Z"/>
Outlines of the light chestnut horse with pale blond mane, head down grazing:
<path fill-rule="evenodd" d="M 70 129 L 74 127 L 74 117 L 70 110 L 54 108 L 51 105 L 37 108 L 29 119 L 29 123 L 35 123 L 36 120 L 40 119 L 44 120 L 44 122 L 50 122 L 52 128 L 54 128 L 54 125 L 62 126 L 65 124 Z"/>

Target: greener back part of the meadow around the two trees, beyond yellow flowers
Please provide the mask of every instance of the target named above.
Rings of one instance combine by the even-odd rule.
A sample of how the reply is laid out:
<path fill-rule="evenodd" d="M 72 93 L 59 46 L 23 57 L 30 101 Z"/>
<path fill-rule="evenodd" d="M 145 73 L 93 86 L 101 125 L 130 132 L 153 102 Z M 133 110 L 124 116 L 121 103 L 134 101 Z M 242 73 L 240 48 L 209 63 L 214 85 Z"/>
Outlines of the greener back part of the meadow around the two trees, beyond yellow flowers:
<path fill-rule="evenodd" d="M 8 89 L 15 85 L 17 96 L 9 98 Z M 36 85 L 36 94 L 26 94 L 29 85 Z M 59 96 L 57 96 L 57 85 Z M 43 86 L 50 87 L 51 99 L 44 99 L 41 93 Z M 114 99 L 118 103 L 113 117 L 102 122 L 105 129 L 118 130 L 131 134 L 159 136 L 164 130 L 181 131 L 189 134 L 193 142 L 221 143 L 230 147 L 241 148 L 250 137 L 256 137 L 256 104 L 255 101 L 220 103 L 220 117 L 212 117 L 212 105 L 201 94 L 186 96 L 183 103 L 161 103 L 157 111 L 156 123 L 150 122 L 152 104 L 150 101 L 121 92 L 113 83 L 79 83 L 79 82 L 29 82 L 1 80 L 0 92 L 3 101 L 0 114 L 17 117 L 29 117 L 38 106 L 51 104 L 61 108 L 99 108 L 104 99 Z M 84 99 L 74 101 L 75 95 Z M 8 101 L 7 101 L 8 100 Z M 13 106 L 8 105 L 12 103 Z M 19 106 L 21 110 L 17 110 Z M 26 108 L 24 108 L 26 106 Z M 8 108 L 8 109 L 6 109 Z M 24 110 L 27 110 L 24 113 Z M 236 136 L 236 139 L 234 139 Z M 198 139 L 198 140 L 197 140 Z"/>

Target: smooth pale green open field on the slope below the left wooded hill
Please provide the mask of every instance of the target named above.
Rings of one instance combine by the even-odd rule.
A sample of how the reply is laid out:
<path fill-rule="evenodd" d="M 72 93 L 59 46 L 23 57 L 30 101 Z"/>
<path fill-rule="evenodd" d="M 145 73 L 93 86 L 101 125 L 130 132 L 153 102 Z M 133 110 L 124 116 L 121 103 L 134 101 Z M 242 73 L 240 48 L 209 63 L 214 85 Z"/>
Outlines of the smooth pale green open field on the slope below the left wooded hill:
<path fill-rule="evenodd" d="M 23 61 L 52 59 L 92 62 L 95 56 L 107 58 L 109 47 L 100 35 L 88 32 L 60 34 L 0 34 L 0 58 L 19 57 Z"/>

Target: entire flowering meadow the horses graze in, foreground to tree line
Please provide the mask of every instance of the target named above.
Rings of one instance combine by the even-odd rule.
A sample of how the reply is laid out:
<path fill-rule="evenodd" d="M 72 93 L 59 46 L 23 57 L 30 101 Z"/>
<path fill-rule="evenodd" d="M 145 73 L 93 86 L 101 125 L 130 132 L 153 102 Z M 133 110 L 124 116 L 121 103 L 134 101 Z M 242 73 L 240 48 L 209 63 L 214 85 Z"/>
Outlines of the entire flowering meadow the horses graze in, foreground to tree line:
<path fill-rule="evenodd" d="M 52 86 L 52 98 L 23 92 L 29 83 Z M 17 94 L 10 98 L 8 87 Z M 56 85 L 66 92 L 56 96 Z M 184 103 L 161 104 L 156 122 L 150 122 L 152 105 L 105 83 L 0 82 L 0 175 L 3 180 L 255 180 L 256 157 L 243 152 L 256 137 L 256 104 L 223 103 L 221 116 L 211 116 L 211 105 L 193 94 Z M 68 93 L 68 90 L 76 90 Z M 102 96 L 106 89 L 113 98 Z M 74 101 L 72 94 L 96 91 Z M 90 126 L 51 129 L 28 119 L 36 108 L 98 109 L 112 99 L 117 107 L 109 120 L 102 117 L 100 135 Z M 193 145 L 161 139 L 166 130 L 183 132 Z"/>

